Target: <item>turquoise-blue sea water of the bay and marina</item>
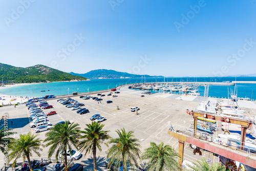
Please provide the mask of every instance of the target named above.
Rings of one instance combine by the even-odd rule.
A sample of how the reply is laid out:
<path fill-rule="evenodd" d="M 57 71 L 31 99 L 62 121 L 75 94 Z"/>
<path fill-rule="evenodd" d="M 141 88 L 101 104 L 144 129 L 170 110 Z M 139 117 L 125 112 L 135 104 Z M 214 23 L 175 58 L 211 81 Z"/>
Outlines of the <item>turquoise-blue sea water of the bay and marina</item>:
<path fill-rule="evenodd" d="M 223 81 L 256 81 L 256 77 L 170 77 L 165 78 L 165 82 L 223 82 Z M 25 84 L 21 86 L 0 89 L 2 95 L 23 96 L 23 97 L 41 97 L 45 95 L 63 95 L 72 92 L 92 92 L 115 88 L 122 84 L 141 83 L 141 82 L 164 82 L 164 78 L 118 78 L 118 79 L 92 79 L 90 81 L 78 82 L 51 82 L 51 83 L 36 83 Z M 238 97 L 248 97 L 256 99 L 256 84 L 238 83 Z M 209 86 L 209 96 L 228 97 L 227 90 L 234 90 L 234 86 Z M 204 95 L 204 87 L 198 88 L 199 93 Z M 43 92 L 41 92 L 43 91 Z"/>

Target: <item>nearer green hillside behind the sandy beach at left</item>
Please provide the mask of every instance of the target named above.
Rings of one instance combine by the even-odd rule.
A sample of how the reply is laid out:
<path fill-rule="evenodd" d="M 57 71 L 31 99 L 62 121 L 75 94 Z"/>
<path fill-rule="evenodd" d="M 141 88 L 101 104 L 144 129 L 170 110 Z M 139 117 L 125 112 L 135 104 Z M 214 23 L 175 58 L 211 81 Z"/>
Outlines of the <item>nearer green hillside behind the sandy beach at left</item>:
<path fill-rule="evenodd" d="M 4 81 L 14 80 L 15 82 L 22 83 L 87 79 L 81 76 L 74 76 L 69 73 L 62 72 L 43 65 L 35 65 L 32 67 L 21 68 L 0 63 L 0 78 L 2 77 Z"/>

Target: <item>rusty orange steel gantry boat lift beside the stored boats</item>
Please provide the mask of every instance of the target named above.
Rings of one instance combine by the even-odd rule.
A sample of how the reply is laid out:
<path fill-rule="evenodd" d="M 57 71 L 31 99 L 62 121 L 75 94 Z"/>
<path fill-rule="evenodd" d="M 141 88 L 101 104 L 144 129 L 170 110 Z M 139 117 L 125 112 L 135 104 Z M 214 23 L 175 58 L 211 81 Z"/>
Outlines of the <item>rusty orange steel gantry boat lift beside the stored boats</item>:
<path fill-rule="evenodd" d="M 193 112 L 193 111 L 186 111 L 187 114 L 194 117 L 194 129 L 191 130 L 191 134 L 186 135 L 184 132 L 180 132 L 179 130 L 173 130 L 173 126 L 170 126 L 170 129 L 168 131 L 168 134 L 177 138 L 179 140 L 179 155 L 181 158 L 179 159 L 179 164 L 182 165 L 183 161 L 183 153 L 184 153 L 184 142 L 188 142 L 190 144 L 196 145 L 200 148 L 206 149 L 207 151 L 210 151 L 212 153 L 219 154 L 221 156 L 227 157 L 232 160 L 240 161 L 241 163 L 244 163 L 246 165 L 256 167 L 256 157 L 255 158 L 248 158 L 248 155 L 245 154 L 244 150 L 244 144 L 245 144 L 245 136 L 246 136 L 246 130 L 248 127 L 252 125 L 251 120 L 245 120 L 242 118 L 232 117 L 232 116 L 222 116 L 222 115 L 214 115 L 209 113 L 202 113 L 202 112 Z M 227 123 L 233 123 L 241 125 L 241 145 L 240 145 L 240 153 L 238 155 L 238 152 L 230 151 L 231 149 L 223 148 L 223 146 L 218 145 L 210 145 L 208 141 L 208 137 L 204 136 L 205 141 L 202 141 L 202 134 L 197 131 L 197 120 L 198 117 L 205 118 L 205 119 L 211 119 L 221 122 L 227 122 Z M 199 133 L 199 134 L 198 134 Z"/>

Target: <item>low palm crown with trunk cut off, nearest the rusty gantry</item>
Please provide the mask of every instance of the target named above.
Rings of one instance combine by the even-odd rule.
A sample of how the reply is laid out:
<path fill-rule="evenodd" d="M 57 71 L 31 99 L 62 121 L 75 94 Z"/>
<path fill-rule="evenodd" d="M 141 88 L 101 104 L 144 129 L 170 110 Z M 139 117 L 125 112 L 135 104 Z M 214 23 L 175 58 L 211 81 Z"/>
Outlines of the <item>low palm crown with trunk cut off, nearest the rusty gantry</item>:
<path fill-rule="evenodd" d="M 147 170 L 179 170 L 180 165 L 177 159 L 179 154 L 170 145 L 164 145 L 161 142 L 157 145 L 155 142 L 150 143 L 150 147 L 146 148 L 141 154 L 141 160 L 148 160 Z"/>

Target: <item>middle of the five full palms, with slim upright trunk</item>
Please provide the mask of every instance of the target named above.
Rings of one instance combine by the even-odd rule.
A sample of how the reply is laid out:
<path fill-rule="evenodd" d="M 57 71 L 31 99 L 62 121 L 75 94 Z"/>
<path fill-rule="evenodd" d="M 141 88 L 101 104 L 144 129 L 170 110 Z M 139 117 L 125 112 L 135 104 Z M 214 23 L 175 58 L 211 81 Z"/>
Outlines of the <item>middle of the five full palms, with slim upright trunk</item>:
<path fill-rule="evenodd" d="M 96 148 L 99 149 L 101 152 L 101 144 L 105 144 L 109 147 L 108 143 L 104 142 L 105 140 L 109 139 L 110 136 L 108 135 L 109 131 L 103 131 L 102 128 L 104 124 L 100 124 L 100 122 L 92 122 L 91 124 L 86 124 L 85 131 L 81 131 L 84 135 L 81 136 L 79 139 L 84 139 L 78 143 L 79 149 L 86 150 L 86 154 L 90 153 L 91 150 L 93 152 L 93 167 L 94 170 L 97 170 L 97 163 L 96 163 Z M 85 154 L 85 155 L 86 155 Z"/>

